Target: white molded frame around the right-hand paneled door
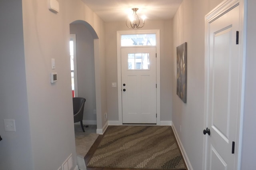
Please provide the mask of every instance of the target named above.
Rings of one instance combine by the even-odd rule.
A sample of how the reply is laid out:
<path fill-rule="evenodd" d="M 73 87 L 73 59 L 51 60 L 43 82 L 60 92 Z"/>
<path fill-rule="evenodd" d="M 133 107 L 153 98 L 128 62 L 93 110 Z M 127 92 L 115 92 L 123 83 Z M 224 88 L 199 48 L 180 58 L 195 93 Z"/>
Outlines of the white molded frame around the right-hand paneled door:
<path fill-rule="evenodd" d="M 240 170 L 241 165 L 241 152 L 242 152 L 242 123 L 243 123 L 243 111 L 244 111 L 244 79 L 245 79 L 245 57 L 246 57 L 246 0 L 224 0 L 220 5 L 218 5 L 216 8 L 214 8 L 211 12 L 209 12 L 205 16 L 205 72 L 204 72 L 204 127 L 202 129 L 208 127 L 207 120 L 207 99 L 208 99 L 208 65 L 209 65 L 209 49 L 210 49 L 210 43 L 209 43 L 209 24 L 234 8 L 235 6 L 238 6 L 240 8 L 240 18 L 239 18 L 239 25 L 240 25 L 240 31 L 239 31 L 239 51 L 240 51 L 240 70 L 238 75 L 240 79 L 240 95 L 239 95 L 239 110 L 238 113 L 238 122 L 237 122 L 237 137 L 236 137 L 236 146 L 235 146 L 235 152 L 236 154 L 236 170 Z M 202 134 L 203 135 L 203 134 Z M 208 138 L 210 136 L 206 135 L 204 136 L 204 149 L 203 149 L 203 165 L 202 169 L 206 170 L 206 159 L 207 154 L 206 153 L 206 146 L 208 142 Z"/>

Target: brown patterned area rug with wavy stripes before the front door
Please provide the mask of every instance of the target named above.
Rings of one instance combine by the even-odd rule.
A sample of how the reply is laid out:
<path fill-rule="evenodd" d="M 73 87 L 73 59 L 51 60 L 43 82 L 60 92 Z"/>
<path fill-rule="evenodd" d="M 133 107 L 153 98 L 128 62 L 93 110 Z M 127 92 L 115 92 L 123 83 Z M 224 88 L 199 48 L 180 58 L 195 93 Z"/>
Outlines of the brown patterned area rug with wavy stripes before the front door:
<path fill-rule="evenodd" d="M 109 126 L 88 167 L 186 170 L 170 126 Z"/>

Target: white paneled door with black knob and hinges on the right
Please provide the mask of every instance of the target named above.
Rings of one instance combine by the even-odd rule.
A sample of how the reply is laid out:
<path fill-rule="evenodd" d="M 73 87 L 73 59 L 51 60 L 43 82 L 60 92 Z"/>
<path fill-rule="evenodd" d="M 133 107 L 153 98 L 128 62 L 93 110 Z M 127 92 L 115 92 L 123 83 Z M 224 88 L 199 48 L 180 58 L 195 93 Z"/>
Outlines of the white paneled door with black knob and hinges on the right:
<path fill-rule="evenodd" d="M 207 21 L 205 111 L 210 135 L 205 134 L 205 170 L 235 170 L 237 165 L 242 82 L 237 5 L 218 17 L 213 12 L 215 18 Z"/>

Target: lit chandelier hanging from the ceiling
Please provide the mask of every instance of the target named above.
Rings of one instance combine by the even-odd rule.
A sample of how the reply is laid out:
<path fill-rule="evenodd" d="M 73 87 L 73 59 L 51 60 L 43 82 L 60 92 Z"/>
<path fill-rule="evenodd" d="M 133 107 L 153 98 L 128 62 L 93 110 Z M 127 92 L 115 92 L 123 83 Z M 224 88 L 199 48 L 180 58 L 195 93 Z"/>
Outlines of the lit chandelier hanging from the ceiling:
<path fill-rule="evenodd" d="M 133 14 L 132 14 L 132 16 L 129 17 L 129 21 L 126 20 L 126 26 L 128 28 L 134 29 L 135 27 L 142 28 L 144 26 L 144 19 L 146 17 L 142 16 L 142 20 L 141 20 L 140 17 L 137 15 L 137 10 L 138 10 L 138 8 L 132 8 Z M 142 23 L 143 23 L 143 25 L 142 25 Z"/>

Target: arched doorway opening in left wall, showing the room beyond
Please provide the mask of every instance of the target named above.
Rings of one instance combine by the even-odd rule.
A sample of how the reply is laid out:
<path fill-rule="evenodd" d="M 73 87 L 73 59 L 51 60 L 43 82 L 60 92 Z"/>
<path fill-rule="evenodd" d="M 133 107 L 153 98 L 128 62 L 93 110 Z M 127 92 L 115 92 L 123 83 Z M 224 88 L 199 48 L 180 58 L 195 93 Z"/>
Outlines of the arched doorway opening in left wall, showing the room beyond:
<path fill-rule="evenodd" d="M 97 48 L 98 44 L 95 43 L 94 40 L 98 39 L 98 36 L 94 31 L 94 29 L 92 28 L 92 26 L 90 26 L 90 24 L 82 20 L 77 20 L 70 23 L 70 35 L 72 35 L 70 36 L 70 41 L 71 40 L 75 41 L 73 54 L 76 54 L 76 59 L 74 60 L 75 67 L 73 68 L 74 72 L 76 73 L 76 74 L 73 74 L 75 76 L 74 79 L 76 79 L 76 81 L 74 81 L 76 85 L 74 85 L 73 87 L 75 87 L 74 88 L 76 92 L 75 97 L 84 97 L 86 99 L 86 103 L 84 107 L 83 124 L 89 125 L 89 128 L 85 128 L 85 131 L 86 131 L 85 136 L 88 136 L 88 133 L 91 132 L 92 127 L 93 126 L 95 127 L 95 125 L 97 125 L 97 112 L 100 114 L 99 112 L 100 109 L 97 109 L 97 105 L 96 105 L 97 103 L 96 91 L 98 90 L 97 89 L 98 86 L 96 85 L 96 81 L 95 81 L 96 77 L 99 76 L 98 72 L 95 71 L 98 69 L 97 68 L 98 65 L 97 63 L 95 63 L 95 60 L 94 60 L 95 55 L 97 55 L 97 53 L 96 54 L 94 53 L 95 46 L 96 46 L 96 49 L 98 49 Z M 71 71 L 71 74 L 72 74 L 72 71 Z M 78 125 L 78 127 L 79 126 L 80 125 Z M 95 134 L 90 134 L 90 138 L 91 139 L 95 138 L 96 140 L 96 130 L 94 133 Z M 81 134 L 83 134 L 82 131 L 78 133 L 75 132 L 76 138 Z M 81 137 L 81 140 L 84 140 L 82 138 L 84 137 Z M 84 144 L 82 144 L 81 146 L 81 144 L 77 144 L 77 139 L 76 139 L 77 163 L 78 163 L 78 168 L 81 170 L 86 169 L 84 164 L 84 156 L 86 154 L 87 148 L 90 148 L 91 146 L 90 144 L 92 144 L 91 142 L 84 142 Z"/>

